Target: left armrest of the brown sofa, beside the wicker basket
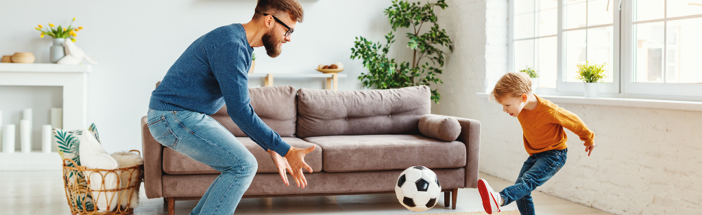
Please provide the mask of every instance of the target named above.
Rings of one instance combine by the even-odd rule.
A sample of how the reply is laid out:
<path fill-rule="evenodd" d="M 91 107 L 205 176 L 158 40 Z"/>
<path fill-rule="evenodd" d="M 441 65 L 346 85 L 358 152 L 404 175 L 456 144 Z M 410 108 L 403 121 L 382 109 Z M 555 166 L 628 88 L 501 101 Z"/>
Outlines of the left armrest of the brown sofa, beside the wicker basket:
<path fill-rule="evenodd" d="M 141 145 L 144 152 L 144 188 L 146 197 L 163 197 L 161 176 L 163 175 L 164 146 L 161 146 L 149 131 L 147 117 L 141 118 Z"/>

